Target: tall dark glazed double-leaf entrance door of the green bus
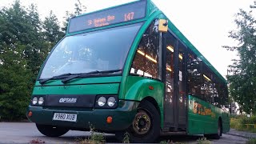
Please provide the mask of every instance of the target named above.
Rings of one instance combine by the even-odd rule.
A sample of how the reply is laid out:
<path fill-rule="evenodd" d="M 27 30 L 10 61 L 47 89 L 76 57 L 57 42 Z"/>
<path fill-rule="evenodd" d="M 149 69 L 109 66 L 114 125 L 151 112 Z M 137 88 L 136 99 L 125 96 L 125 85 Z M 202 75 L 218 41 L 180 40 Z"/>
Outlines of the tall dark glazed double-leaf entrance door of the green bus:
<path fill-rule="evenodd" d="M 162 39 L 166 48 L 164 123 L 169 131 L 186 128 L 186 48 L 174 35 L 167 33 Z M 164 67 L 164 66 L 163 66 Z"/>

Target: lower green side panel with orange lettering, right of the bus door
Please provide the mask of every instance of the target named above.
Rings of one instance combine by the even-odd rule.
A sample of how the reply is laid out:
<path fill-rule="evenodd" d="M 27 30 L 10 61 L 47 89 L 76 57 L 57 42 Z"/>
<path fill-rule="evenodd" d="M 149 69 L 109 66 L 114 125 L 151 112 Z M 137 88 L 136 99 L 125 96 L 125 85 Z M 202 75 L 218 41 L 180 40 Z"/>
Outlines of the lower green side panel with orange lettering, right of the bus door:
<path fill-rule="evenodd" d="M 216 134 L 218 114 L 215 106 L 199 98 L 188 96 L 188 134 Z"/>

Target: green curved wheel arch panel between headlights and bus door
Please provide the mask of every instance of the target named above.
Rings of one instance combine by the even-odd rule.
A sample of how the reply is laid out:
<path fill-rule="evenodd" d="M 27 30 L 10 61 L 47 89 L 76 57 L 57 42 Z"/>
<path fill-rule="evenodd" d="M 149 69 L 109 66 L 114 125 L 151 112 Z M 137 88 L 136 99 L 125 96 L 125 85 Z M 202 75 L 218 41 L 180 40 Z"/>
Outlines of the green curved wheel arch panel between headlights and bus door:
<path fill-rule="evenodd" d="M 153 86 L 153 90 L 151 86 Z M 158 103 L 161 126 L 163 126 L 163 90 L 164 85 L 162 82 L 138 76 L 128 76 L 125 99 L 142 101 L 142 99 L 146 97 L 154 98 L 154 100 Z"/>

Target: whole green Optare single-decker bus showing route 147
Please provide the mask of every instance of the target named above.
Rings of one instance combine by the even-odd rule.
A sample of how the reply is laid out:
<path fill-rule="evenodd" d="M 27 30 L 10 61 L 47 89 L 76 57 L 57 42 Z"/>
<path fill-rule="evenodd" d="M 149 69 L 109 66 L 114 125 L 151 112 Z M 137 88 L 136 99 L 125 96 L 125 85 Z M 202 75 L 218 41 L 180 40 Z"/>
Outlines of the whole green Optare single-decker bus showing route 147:
<path fill-rule="evenodd" d="M 230 130 L 226 80 L 150 0 L 70 18 L 35 83 L 27 117 L 50 137 L 68 130 L 130 142 Z"/>

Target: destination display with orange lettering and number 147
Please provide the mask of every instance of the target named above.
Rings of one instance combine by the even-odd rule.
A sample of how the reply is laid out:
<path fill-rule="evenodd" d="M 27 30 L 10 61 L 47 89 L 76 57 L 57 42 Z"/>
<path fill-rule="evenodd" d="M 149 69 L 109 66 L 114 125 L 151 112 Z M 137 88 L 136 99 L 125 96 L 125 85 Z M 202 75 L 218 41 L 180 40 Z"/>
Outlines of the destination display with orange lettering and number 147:
<path fill-rule="evenodd" d="M 91 14 L 85 14 L 70 19 L 69 33 L 87 30 L 95 27 L 108 26 L 120 22 L 129 22 L 146 16 L 146 0 L 117 6 Z"/>

